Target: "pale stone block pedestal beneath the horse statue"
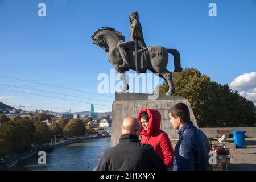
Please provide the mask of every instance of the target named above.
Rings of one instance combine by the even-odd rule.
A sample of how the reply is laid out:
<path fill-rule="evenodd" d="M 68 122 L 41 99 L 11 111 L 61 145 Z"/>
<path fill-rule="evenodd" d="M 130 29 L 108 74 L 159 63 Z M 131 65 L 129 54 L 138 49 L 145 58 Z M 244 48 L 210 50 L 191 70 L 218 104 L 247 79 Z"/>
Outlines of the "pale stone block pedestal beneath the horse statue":
<path fill-rule="evenodd" d="M 168 116 L 168 109 L 172 105 L 179 102 L 186 104 L 190 111 L 190 118 L 193 124 L 197 126 L 195 116 L 193 114 L 191 105 L 185 97 L 180 96 L 159 96 L 156 100 L 148 100 L 151 94 L 143 93 L 115 93 L 115 101 L 112 104 L 112 132 L 111 132 L 111 146 L 119 143 L 121 136 L 121 125 L 123 119 L 128 116 L 137 118 L 141 109 L 147 107 L 148 109 L 157 109 L 161 114 L 160 129 L 165 131 L 170 139 L 179 139 L 177 130 L 172 128 L 170 118 Z"/>

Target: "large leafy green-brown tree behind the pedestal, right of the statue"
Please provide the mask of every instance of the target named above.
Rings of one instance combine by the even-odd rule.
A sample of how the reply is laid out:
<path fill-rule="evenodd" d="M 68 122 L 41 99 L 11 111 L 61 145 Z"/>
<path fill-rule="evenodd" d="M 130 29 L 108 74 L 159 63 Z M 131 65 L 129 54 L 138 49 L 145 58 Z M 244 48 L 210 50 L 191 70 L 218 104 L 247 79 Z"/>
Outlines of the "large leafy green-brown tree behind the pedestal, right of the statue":
<path fill-rule="evenodd" d="M 195 68 L 172 73 L 175 96 L 185 96 L 191 103 L 199 127 L 254 127 L 256 107 L 227 84 L 210 81 Z M 166 94 L 168 85 L 159 86 L 159 94 Z"/>

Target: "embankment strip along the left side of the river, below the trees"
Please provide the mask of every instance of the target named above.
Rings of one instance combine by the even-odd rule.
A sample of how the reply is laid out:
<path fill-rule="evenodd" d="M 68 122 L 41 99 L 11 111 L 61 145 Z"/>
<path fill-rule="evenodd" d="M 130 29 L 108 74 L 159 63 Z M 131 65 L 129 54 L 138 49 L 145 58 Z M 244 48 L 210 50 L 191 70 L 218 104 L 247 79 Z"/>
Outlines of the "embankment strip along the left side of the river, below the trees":
<path fill-rule="evenodd" d="M 46 151 L 46 152 L 52 152 L 55 148 L 58 148 L 58 147 L 61 147 L 61 146 L 66 146 L 66 145 L 73 144 L 73 143 L 84 142 L 85 140 L 93 140 L 93 139 L 107 138 L 107 137 L 110 137 L 110 136 L 90 137 L 90 138 L 80 138 L 80 139 L 74 139 L 74 140 L 67 140 L 67 141 L 64 141 L 64 142 L 49 144 L 47 146 L 43 146 L 43 148 L 36 148 L 35 151 L 26 152 L 26 155 L 15 157 L 14 160 L 12 160 L 11 158 L 5 160 L 6 163 L 0 164 L 0 170 L 6 170 L 6 169 L 9 169 L 11 167 L 16 166 L 17 164 L 19 164 L 23 160 L 26 160 L 28 158 L 31 158 L 32 156 L 37 155 L 40 150 L 43 150 L 43 151 Z"/>

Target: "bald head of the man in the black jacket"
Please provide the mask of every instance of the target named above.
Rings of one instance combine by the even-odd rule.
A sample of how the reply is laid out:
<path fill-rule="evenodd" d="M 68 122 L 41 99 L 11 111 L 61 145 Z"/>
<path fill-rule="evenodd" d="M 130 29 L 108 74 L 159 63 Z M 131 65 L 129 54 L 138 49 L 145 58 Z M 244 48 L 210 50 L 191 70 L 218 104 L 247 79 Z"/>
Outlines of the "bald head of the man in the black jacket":
<path fill-rule="evenodd" d="M 141 123 L 137 118 L 127 117 L 123 119 L 121 126 L 122 134 L 133 134 L 136 135 L 137 131 L 141 131 Z"/>

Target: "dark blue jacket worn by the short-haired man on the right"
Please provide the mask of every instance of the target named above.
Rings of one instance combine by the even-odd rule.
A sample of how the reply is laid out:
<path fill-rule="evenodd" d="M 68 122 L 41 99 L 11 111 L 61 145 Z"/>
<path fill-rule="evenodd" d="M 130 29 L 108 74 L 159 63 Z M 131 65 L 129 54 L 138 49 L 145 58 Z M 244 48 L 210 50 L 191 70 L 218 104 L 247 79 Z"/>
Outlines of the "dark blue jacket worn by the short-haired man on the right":
<path fill-rule="evenodd" d="M 174 171 L 209 169 L 209 139 L 190 121 L 178 131 L 180 140 L 174 150 Z"/>

